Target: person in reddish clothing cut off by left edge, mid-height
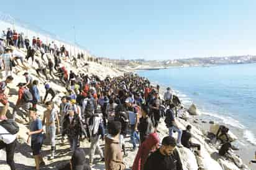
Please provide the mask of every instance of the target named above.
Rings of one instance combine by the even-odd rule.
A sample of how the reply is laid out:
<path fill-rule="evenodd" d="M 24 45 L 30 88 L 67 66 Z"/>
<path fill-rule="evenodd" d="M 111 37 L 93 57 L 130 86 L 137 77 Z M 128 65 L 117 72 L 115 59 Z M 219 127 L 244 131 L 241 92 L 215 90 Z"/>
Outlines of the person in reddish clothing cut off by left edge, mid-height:
<path fill-rule="evenodd" d="M 4 108 L 0 112 L 0 119 L 2 117 L 6 117 L 6 112 L 9 109 L 9 102 L 7 97 L 8 94 L 6 94 L 7 92 L 5 90 L 7 84 L 12 83 L 13 79 L 14 78 L 12 76 L 7 76 L 6 81 L 0 82 L 0 102 L 2 105 L 4 105 Z"/>

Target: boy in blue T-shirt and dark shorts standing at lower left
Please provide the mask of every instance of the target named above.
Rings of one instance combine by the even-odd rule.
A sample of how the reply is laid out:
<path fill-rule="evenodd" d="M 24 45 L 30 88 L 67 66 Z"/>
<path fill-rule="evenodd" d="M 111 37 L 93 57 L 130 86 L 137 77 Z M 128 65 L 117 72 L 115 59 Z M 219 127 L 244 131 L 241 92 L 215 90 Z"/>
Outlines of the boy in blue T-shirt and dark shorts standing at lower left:
<path fill-rule="evenodd" d="M 30 122 L 30 131 L 27 132 L 27 135 L 29 135 L 27 143 L 29 143 L 30 140 L 32 153 L 35 159 L 35 169 L 39 170 L 40 166 L 45 165 L 40 153 L 43 145 L 43 125 L 42 120 L 37 117 L 37 109 L 30 107 L 29 117 L 32 121 Z"/>

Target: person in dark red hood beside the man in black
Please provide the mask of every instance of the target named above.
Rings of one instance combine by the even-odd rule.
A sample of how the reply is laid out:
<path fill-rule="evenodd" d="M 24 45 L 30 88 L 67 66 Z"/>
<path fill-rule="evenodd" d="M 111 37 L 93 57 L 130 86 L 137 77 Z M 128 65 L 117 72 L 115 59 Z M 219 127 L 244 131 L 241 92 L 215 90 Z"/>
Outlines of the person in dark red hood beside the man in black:
<path fill-rule="evenodd" d="M 132 170 L 143 170 L 144 164 L 149 157 L 150 151 L 158 149 L 159 137 L 157 133 L 150 133 L 147 139 L 142 143 L 134 159 Z"/>

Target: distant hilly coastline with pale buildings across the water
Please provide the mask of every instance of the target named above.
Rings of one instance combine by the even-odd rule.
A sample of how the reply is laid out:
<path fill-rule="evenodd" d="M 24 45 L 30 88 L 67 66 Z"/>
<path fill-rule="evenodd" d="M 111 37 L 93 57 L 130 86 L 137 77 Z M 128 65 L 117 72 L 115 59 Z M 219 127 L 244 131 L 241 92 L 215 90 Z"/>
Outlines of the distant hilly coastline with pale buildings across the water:
<path fill-rule="evenodd" d="M 256 56 L 222 56 L 207 58 L 187 58 L 178 60 L 112 60 L 112 63 L 120 68 L 126 69 L 165 69 L 170 67 L 189 66 L 214 66 L 214 65 L 237 65 L 246 63 L 256 63 Z"/>

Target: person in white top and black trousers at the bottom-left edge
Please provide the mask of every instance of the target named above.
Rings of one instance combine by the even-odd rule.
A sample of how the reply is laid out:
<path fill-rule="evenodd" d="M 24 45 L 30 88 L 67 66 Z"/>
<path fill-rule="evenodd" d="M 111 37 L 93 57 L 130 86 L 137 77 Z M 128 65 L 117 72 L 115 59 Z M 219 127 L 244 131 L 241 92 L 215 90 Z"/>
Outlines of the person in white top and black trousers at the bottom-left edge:
<path fill-rule="evenodd" d="M 2 122 L 3 120 L 0 120 Z M 0 123 L 0 150 L 6 149 L 6 163 L 9 164 L 11 170 L 15 170 L 14 151 L 16 148 L 17 134 L 11 134 Z"/>

